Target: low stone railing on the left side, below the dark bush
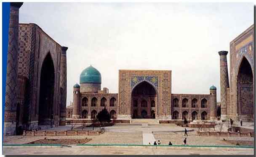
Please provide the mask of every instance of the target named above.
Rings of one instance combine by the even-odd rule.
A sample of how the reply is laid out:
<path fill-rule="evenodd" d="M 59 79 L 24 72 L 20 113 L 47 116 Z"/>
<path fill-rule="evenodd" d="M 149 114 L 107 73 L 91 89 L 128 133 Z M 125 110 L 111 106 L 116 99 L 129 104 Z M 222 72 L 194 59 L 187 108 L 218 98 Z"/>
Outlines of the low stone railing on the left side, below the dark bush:
<path fill-rule="evenodd" d="M 76 136 L 76 135 L 100 135 L 104 131 L 70 130 L 70 131 L 24 131 L 23 136 Z"/>

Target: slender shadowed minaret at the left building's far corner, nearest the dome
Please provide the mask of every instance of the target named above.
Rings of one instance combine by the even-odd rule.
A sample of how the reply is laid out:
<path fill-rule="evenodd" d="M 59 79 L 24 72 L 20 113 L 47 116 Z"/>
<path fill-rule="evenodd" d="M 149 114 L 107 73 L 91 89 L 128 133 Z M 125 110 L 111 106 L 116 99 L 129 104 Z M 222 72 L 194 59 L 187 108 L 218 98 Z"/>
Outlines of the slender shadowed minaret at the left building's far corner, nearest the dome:
<path fill-rule="evenodd" d="M 67 47 L 61 47 L 61 122 L 60 125 L 66 125 L 66 106 L 67 106 Z"/>

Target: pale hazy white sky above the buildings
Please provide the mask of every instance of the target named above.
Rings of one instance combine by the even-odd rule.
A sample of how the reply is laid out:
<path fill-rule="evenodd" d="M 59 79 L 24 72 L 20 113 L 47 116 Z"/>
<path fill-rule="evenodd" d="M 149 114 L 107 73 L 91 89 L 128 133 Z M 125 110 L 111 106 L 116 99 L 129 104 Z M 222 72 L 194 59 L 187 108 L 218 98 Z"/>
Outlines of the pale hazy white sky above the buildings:
<path fill-rule="evenodd" d="M 90 64 L 110 93 L 118 69 L 164 69 L 172 93 L 208 94 L 215 85 L 220 101 L 218 51 L 253 24 L 253 3 L 24 3 L 20 23 L 68 47 L 68 105 Z"/>

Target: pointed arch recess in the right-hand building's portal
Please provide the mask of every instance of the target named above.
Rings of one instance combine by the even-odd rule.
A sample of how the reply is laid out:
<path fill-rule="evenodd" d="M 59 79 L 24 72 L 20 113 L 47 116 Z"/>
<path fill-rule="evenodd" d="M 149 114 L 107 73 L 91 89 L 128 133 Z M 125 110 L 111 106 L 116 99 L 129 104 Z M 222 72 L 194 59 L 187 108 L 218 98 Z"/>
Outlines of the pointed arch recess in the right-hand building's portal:
<path fill-rule="evenodd" d="M 253 72 L 250 63 L 243 57 L 237 74 L 238 116 L 253 118 L 253 104 Z"/>

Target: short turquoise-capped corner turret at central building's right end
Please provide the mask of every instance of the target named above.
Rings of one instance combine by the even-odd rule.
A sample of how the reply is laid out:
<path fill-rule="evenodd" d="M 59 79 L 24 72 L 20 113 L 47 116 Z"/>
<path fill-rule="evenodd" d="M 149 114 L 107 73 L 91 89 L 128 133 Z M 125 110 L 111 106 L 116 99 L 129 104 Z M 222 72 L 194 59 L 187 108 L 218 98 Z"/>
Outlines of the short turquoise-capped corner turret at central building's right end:
<path fill-rule="evenodd" d="M 210 87 L 210 119 L 215 120 L 216 116 L 217 116 L 216 87 L 212 85 Z"/>

